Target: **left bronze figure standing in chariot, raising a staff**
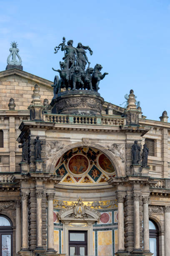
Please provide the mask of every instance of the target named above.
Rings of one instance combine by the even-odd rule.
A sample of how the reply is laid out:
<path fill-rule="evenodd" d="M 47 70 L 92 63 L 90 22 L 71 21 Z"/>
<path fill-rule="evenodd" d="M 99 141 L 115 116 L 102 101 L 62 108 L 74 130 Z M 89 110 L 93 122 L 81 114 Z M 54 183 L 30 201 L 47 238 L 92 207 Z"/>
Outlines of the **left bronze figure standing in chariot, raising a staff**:
<path fill-rule="evenodd" d="M 75 48 L 72 46 L 73 41 L 69 40 L 67 45 L 62 45 L 61 51 L 66 51 L 65 57 L 63 58 L 65 62 L 67 62 L 67 69 L 70 69 L 75 64 L 75 56 L 77 56 L 77 52 Z"/>

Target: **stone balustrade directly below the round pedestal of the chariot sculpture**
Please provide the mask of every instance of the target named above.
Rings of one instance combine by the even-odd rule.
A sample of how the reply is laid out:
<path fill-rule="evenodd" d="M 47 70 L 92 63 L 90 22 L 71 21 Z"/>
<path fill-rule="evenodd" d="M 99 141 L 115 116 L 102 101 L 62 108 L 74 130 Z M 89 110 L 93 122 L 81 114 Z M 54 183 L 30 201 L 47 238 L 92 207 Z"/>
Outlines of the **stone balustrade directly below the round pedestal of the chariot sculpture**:
<path fill-rule="evenodd" d="M 120 116 L 87 116 L 87 115 L 58 115 L 46 114 L 44 120 L 46 122 L 54 122 L 60 124 L 86 124 L 86 125 L 112 125 L 119 126 L 126 124 L 126 118 Z"/>

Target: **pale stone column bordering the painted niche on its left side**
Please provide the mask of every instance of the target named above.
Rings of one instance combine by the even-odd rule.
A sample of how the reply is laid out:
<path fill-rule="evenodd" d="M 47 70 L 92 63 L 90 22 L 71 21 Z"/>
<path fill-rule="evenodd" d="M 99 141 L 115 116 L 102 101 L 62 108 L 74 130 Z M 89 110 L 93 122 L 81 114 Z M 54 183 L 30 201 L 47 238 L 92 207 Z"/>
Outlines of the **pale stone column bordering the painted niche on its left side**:
<path fill-rule="evenodd" d="M 47 251 L 54 251 L 54 221 L 53 221 L 53 199 L 55 193 L 47 193 Z"/>

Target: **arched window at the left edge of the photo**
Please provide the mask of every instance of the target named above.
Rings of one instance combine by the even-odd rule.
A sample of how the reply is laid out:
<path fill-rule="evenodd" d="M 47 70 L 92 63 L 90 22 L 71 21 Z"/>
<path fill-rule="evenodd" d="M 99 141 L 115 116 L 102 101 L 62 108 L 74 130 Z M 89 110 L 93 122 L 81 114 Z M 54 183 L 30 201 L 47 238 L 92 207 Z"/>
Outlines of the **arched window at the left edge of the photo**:
<path fill-rule="evenodd" d="M 0 256 L 12 256 L 13 229 L 9 218 L 0 215 Z"/>

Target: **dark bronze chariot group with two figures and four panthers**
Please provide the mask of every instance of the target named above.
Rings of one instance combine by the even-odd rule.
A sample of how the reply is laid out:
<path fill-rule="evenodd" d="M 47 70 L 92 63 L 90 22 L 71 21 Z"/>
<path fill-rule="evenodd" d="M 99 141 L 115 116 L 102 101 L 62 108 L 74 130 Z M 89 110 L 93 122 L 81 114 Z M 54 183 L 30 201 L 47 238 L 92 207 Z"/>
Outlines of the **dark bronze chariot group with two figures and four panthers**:
<path fill-rule="evenodd" d="M 60 61 L 60 69 L 54 69 L 59 72 L 60 79 L 58 76 L 54 78 L 54 84 L 52 84 L 54 96 L 60 93 L 61 88 L 70 88 L 70 90 L 91 90 L 98 92 L 99 82 L 108 73 L 102 74 L 100 71 L 102 66 L 96 64 L 94 69 L 90 67 L 90 62 L 87 58 L 86 51 L 93 54 L 89 46 L 84 46 L 82 43 L 78 43 L 77 47 L 73 46 L 73 41 L 67 41 L 65 44 L 65 37 L 62 38 L 62 43 L 55 47 L 55 54 L 61 49 L 64 51 L 63 61 Z M 86 64 L 88 63 L 87 68 Z"/>

